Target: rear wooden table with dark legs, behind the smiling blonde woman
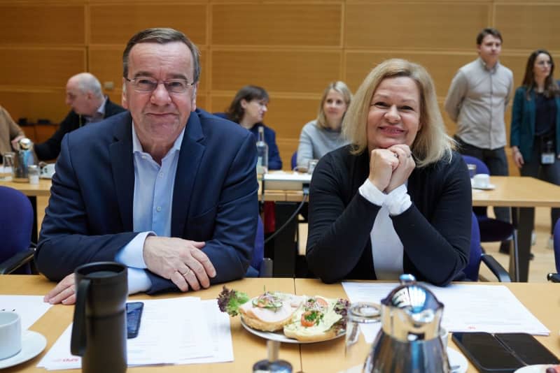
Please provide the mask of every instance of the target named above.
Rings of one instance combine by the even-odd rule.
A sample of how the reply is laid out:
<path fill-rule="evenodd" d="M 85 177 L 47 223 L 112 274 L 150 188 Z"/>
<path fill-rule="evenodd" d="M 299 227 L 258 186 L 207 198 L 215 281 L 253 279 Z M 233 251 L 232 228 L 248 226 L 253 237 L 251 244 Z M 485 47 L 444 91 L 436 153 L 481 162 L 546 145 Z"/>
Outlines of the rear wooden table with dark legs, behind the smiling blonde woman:
<path fill-rule="evenodd" d="M 510 277 L 513 281 L 528 281 L 531 231 L 534 207 L 560 207 L 560 186 L 534 177 L 491 176 L 492 190 L 472 189 L 473 206 L 512 207 L 513 224 L 517 228 L 517 255 L 510 254 Z M 276 203 L 276 227 L 281 226 L 304 198 L 302 191 L 263 190 L 262 199 Z M 276 237 L 274 244 L 274 275 L 294 277 L 294 243 L 297 221 L 293 221 Z M 292 249 L 293 248 L 293 249 Z M 288 263 L 288 265 L 286 265 Z M 279 267 L 277 267 L 279 265 Z"/>

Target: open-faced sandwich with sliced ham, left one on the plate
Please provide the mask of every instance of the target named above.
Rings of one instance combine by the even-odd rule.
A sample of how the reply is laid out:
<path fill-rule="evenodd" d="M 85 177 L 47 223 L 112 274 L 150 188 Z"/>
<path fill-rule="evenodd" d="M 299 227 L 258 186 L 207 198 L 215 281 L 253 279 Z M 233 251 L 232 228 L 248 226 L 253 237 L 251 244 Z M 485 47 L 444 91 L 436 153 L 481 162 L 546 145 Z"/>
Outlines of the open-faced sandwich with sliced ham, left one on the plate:
<path fill-rule="evenodd" d="M 265 291 L 249 299 L 245 293 L 224 286 L 218 295 L 218 306 L 231 316 L 241 314 L 241 319 L 251 328 L 275 332 L 290 323 L 303 300 L 303 297 L 278 291 Z"/>

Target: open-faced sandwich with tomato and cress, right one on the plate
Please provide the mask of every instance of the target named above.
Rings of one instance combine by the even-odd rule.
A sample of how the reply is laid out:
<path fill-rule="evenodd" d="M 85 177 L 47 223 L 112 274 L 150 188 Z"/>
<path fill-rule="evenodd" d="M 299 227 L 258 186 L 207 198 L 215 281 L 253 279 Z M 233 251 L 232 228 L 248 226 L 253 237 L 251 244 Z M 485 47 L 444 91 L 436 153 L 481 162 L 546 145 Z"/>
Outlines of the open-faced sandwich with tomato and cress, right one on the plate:
<path fill-rule="evenodd" d="M 292 322 L 284 326 L 284 335 L 301 342 L 320 342 L 332 339 L 346 330 L 345 299 L 306 297 L 294 312 Z"/>

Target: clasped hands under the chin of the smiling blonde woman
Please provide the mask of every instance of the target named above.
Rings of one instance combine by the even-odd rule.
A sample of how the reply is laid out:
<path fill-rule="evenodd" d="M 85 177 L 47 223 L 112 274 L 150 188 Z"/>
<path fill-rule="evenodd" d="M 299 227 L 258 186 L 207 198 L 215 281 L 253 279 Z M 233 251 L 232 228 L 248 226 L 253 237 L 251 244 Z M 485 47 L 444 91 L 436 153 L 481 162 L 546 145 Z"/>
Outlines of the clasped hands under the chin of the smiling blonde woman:
<path fill-rule="evenodd" d="M 393 189 L 405 184 L 415 167 L 416 163 L 408 145 L 373 149 L 369 179 L 380 191 L 391 193 Z"/>

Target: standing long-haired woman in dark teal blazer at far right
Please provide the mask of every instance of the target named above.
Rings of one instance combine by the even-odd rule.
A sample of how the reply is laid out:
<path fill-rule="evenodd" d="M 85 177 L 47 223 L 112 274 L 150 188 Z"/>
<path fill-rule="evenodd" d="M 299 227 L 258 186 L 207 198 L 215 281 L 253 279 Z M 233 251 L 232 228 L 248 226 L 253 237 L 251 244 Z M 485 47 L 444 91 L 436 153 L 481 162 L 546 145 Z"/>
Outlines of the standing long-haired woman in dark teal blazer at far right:
<path fill-rule="evenodd" d="M 546 50 L 535 50 L 527 60 L 521 87 L 515 91 L 510 145 L 521 176 L 560 185 L 560 89 L 554 80 L 554 60 Z M 533 210 L 534 211 L 534 210 Z M 560 209 L 550 212 L 552 230 Z"/>

